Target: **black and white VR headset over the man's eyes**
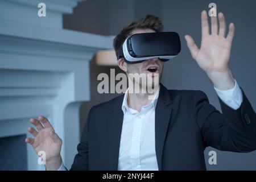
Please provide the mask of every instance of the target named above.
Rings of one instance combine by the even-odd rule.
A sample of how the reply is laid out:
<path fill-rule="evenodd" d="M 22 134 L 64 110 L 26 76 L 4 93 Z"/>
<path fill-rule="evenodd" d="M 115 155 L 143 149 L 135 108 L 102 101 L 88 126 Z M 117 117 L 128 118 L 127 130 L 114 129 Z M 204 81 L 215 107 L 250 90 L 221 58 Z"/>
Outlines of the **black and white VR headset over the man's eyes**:
<path fill-rule="evenodd" d="M 126 63 L 141 63 L 158 58 L 168 61 L 180 52 L 180 37 L 176 32 L 154 32 L 129 36 L 118 51 L 117 58 Z"/>

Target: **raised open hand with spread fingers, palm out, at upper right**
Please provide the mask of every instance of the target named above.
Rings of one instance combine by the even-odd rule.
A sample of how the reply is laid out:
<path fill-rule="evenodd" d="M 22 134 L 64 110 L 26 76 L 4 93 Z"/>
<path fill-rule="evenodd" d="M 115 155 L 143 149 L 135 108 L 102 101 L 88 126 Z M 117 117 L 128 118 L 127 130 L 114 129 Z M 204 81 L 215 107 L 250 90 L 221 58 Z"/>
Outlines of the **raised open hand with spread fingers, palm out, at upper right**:
<path fill-rule="evenodd" d="M 189 35 L 185 36 L 187 45 L 193 59 L 205 72 L 224 72 L 228 69 L 230 50 L 234 37 L 234 24 L 230 23 L 228 36 L 226 34 L 226 22 L 224 14 L 218 14 L 220 28 L 218 28 L 217 17 L 211 18 L 211 34 L 207 12 L 201 13 L 202 39 L 200 49 Z"/>

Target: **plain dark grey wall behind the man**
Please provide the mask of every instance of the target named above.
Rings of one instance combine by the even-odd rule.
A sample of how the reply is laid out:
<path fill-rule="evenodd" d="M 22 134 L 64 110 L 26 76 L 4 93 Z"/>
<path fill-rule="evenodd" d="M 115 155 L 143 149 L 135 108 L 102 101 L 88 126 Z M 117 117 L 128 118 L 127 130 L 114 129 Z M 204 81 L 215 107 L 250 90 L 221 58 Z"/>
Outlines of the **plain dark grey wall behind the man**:
<path fill-rule="evenodd" d="M 168 89 L 203 90 L 207 93 L 210 103 L 220 109 L 212 83 L 192 59 L 184 39 L 184 35 L 189 34 L 200 47 L 200 13 L 202 10 L 209 11 L 208 5 L 211 2 L 204 0 L 87 0 L 81 2 L 72 15 L 64 15 L 63 25 L 64 28 L 71 30 L 117 35 L 124 26 L 146 14 L 159 16 L 165 27 L 164 31 L 176 31 L 181 37 L 180 55 L 165 64 L 162 83 Z M 226 22 L 233 22 L 236 26 L 229 67 L 255 109 L 256 1 L 216 0 L 214 3 L 217 4 L 217 12 L 225 14 Z M 81 129 L 92 105 L 117 96 L 97 93 L 97 75 L 102 72 L 110 73 L 110 68 L 116 68 L 115 72 L 118 73 L 117 67 L 101 67 L 96 65 L 94 60 L 90 62 L 91 100 L 81 107 Z M 189 148 L 187 150 L 189 155 Z M 217 152 L 217 165 L 208 164 L 210 150 Z M 205 163 L 210 170 L 256 170 L 256 152 L 238 154 L 208 147 L 205 150 Z"/>

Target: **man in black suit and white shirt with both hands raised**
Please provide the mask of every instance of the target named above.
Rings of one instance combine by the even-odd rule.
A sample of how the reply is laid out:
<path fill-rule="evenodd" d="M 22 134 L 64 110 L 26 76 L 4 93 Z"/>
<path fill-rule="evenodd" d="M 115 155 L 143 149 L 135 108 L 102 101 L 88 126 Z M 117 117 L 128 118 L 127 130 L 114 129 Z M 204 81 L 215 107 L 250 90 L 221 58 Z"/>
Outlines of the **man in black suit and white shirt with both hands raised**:
<path fill-rule="evenodd" d="M 93 106 L 77 146 L 78 154 L 71 170 L 205 170 L 204 149 L 250 152 L 256 149 L 256 116 L 245 94 L 228 67 L 234 36 L 234 24 L 228 36 L 222 13 L 211 19 L 209 32 L 207 12 L 201 13 L 202 41 L 200 49 L 186 35 L 193 59 L 203 69 L 220 98 L 223 114 L 209 104 L 201 91 L 167 90 L 159 80 L 153 100 L 149 93 L 129 93 Z M 123 28 L 114 39 L 117 53 L 125 39 L 133 34 L 160 32 L 163 25 L 152 15 Z M 158 58 L 118 66 L 128 73 L 162 75 L 164 62 Z M 130 77 L 128 76 L 129 81 Z M 135 85 L 145 88 L 134 81 Z M 60 156 L 61 139 L 47 118 L 31 119 L 36 126 L 27 138 L 38 153 L 47 153 L 46 169 L 65 169 Z"/>

